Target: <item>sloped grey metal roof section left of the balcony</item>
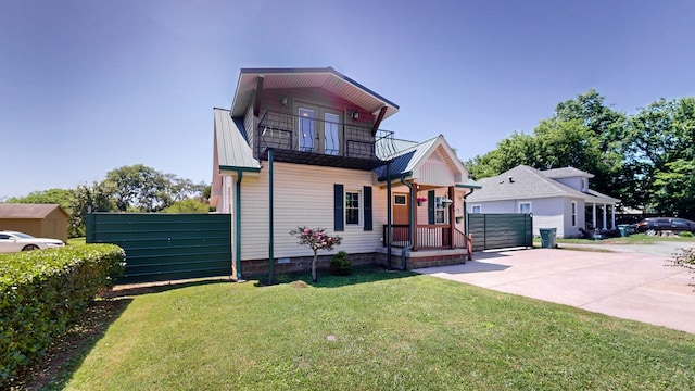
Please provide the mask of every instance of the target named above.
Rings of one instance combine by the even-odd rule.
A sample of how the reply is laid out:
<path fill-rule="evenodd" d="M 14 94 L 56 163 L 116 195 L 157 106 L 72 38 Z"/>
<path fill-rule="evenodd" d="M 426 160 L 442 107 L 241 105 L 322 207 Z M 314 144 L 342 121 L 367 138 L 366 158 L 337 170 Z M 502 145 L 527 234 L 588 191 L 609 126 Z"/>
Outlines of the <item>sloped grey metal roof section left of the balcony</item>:
<path fill-rule="evenodd" d="M 243 130 L 243 124 L 231 118 L 229 110 L 214 109 L 215 148 L 219 169 L 261 169 L 261 163 L 253 159 Z"/>

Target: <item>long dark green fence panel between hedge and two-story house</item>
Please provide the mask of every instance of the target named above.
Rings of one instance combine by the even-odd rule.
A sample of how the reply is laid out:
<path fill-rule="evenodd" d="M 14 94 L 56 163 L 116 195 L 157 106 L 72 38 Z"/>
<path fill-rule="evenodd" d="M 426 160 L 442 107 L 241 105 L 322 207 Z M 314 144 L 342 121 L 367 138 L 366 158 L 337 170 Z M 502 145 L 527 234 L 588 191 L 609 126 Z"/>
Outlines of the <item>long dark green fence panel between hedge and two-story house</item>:
<path fill-rule="evenodd" d="M 231 275 L 229 214 L 91 213 L 87 243 L 126 252 L 119 282 Z"/>

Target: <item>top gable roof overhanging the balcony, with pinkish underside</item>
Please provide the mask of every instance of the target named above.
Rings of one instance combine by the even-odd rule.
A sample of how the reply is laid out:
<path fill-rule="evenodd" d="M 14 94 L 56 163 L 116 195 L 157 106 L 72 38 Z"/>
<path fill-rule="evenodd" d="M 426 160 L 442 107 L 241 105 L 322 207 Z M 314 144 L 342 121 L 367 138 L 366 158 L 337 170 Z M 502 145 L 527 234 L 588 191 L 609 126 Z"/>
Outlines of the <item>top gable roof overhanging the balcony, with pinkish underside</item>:
<path fill-rule="evenodd" d="M 237 83 L 231 115 L 240 117 L 248 108 L 249 99 L 256 88 L 256 80 L 263 77 L 264 89 L 275 88 L 323 88 L 372 114 L 387 108 L 383 119 L 397 113 L 397 104 L 389 101 L 359 83 L 339 73 L 332 67 L 325 68 L 242 68 Z"/>

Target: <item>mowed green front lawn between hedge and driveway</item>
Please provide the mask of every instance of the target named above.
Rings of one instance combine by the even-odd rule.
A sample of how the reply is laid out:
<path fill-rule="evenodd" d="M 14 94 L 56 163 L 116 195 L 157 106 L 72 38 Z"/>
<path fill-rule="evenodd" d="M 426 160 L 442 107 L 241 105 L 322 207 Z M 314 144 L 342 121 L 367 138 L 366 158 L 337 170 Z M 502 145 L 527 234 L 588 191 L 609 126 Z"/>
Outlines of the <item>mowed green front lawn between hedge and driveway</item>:
<path fill-rule="evenodd" d="M 52 389 L 692 389 L 695 336 L 429 276 L 132 295 Z M 84 358 L 84 361 L 83 361 Z M 51 389 L 51 388 L 48 388 Z"/>

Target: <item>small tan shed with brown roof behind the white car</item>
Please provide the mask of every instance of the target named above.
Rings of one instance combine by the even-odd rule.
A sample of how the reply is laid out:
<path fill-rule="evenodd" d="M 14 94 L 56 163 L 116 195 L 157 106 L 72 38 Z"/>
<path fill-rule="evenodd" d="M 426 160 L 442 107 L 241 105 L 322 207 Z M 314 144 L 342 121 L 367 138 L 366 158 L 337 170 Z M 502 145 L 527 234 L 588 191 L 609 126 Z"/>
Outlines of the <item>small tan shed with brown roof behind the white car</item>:
<path fill-rule="evenodd" d="M 70 215 L 59 204 L 0 203 L 0 230 L 67 242 Z"/>

